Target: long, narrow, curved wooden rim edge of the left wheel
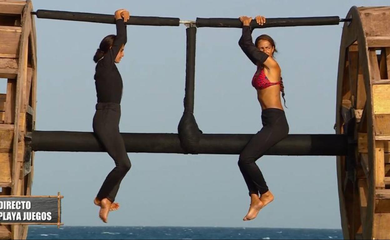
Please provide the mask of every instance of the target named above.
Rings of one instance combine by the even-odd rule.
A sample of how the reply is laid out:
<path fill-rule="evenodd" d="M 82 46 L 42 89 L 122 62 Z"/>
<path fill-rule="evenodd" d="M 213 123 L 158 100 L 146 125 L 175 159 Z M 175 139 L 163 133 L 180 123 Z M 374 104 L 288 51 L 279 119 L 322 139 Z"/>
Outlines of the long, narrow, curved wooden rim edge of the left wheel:
<path fill-rule="evenodd" d="M 27 61 L 28 61 L 28 39 L 31 32 L 31 1 L 28 0 L 26 2 L 26 7 L 23 11 L 22 18 L 22 33 L 20 37 L 20 54 L 19 54 L 19 73 L 18 79 L 16 81 L 16 98 L 15 98 L 15 128 L 14 128 L 14 139 L 13 139 L 13 149 L 12 149 L 12 187 L 11 194 L 15 194 L 18 191 L 18 180 L 19 180 L 19 168 L 20 165 L 17 161 L 18 156 L 18 133 L 19 133 L 19 117 L 20 117 L 20 109 L 21 109 L 21 93 L 24 81 L 27 79 Z M 16 185 L 15 185 L 16 184 Z M 12 232 L 13 237 L 16 237 L 16 233 Z"/>

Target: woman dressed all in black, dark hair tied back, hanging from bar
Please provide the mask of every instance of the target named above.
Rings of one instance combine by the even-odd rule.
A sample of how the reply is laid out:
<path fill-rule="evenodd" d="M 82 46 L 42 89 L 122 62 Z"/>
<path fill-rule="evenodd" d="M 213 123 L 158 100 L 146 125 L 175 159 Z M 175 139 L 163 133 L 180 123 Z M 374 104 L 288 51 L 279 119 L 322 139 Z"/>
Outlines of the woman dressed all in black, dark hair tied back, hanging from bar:
<path fill-rule="evenodd" d="M 121 118 L 122 78 L 115 63 L 124 56 L 127 41 L 125 22 L 129 20 L 126 9 L 115 11 L 117 35 L 108 35 L 100 43 L 93 60 L 96 62 L 95 85 L 96 112 L 93 119 L 94 134 L 115 161 L 115 168 L 107 175 L 94 203 L 100 206 L 99 217 L 107 222 L 108 212 L 119 209 L 115 203 L 119 186 L 129 171 L 131 163 L 123 138 L 119 133 Z"/>

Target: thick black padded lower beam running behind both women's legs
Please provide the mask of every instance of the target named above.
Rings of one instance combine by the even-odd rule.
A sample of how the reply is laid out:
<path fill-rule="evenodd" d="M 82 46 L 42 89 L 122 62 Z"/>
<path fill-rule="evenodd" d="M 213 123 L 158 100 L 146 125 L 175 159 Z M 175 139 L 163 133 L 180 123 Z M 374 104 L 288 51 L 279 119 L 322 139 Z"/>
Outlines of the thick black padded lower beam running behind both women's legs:
<path fill-rule="evenodd" d="M 182 153 L 176 133 L 121 133 L 128 152 Z M 239 154 L 252 134 L 202 134 L 199 154 Z M 291 134 L 271 147 L 266 155 L 344 156 L 346 135 Z M 34 131 L 33 151 L 104 152 L 92 132 Z"/>

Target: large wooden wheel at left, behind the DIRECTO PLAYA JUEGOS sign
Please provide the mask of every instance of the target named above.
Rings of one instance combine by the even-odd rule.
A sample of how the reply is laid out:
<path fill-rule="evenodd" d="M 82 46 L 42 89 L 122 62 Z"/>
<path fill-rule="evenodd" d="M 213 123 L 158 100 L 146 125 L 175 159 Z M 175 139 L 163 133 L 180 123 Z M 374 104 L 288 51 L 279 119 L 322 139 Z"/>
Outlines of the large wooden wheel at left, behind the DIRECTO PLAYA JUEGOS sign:
<path fill-rule="evenodd" d="M 0 0 L 0 187 L 1 195 L 31 195 L 37 55 L 31 1 Z M 0 226 L 0 239 L 26 239 L 28 225 Z"/>

